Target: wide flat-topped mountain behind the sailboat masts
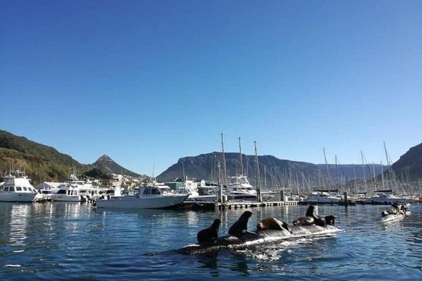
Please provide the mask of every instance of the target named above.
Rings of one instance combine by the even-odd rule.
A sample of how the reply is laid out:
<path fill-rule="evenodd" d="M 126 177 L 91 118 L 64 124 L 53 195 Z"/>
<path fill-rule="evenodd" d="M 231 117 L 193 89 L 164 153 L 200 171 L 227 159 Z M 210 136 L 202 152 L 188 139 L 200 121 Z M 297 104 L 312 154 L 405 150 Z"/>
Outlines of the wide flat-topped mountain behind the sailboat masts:
<path fill-rule="evenodd" d="M 236 176 L 241 174 L 239 153 L 225 153 L 227 176 Z M 161 173 L 157 180 L 161 182 L 170 182 L 184 175 L 197 180 L 218 181 L 218 170 L 220 175 L 223 173 L 222 153 L 212 152 L 193 157 L 184 157 Z M 375 174 L 381 173 L 386 167 L 379 164 L 364 166 L 361 165 L 328 165 L 328 171 L 325 164 L 313 164 L 307 162 L 291 161 L 278 159 L 271 155 L 258 156 L 259 174 L 261 177 L 261 186 L 267 188 L 291 187 L 300 185 L 301 187 L 314 187 L 323 185 L 323 178 L 327 178 L 327 173 L 331 182 L 363 179 L 365 173 L 366 179 L 370 179 L 375 169 Z M 255 156 L 242 154 L 243 174 L 247 175 L 252 186 L 257 186 L 257 168 Z M 219 165 L 219 168 L 218 168 Z M 365 172 L 364 172 L 365 170 Z M 222 176 L 220 176 L 222 179 Z M 333 183 L 331 183 L 333 185 Z"/>

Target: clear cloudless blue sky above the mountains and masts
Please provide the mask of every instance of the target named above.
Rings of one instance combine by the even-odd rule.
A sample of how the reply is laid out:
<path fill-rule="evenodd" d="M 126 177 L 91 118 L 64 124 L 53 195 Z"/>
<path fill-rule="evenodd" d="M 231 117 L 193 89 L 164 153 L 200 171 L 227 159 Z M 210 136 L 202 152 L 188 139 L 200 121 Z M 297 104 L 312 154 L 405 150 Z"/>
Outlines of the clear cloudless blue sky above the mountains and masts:
<path fill-rule="evenodd" d="M 0 0 L 0 129 L 159 174 L 422 142 L 422 1 Z"/>

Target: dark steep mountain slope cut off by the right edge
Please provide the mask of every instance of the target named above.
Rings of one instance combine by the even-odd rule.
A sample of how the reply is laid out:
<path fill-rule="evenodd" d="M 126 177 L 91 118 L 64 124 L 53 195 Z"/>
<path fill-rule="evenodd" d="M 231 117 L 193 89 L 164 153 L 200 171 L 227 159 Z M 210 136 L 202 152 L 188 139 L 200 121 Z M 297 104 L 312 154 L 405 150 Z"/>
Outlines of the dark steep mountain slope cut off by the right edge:
<path fill-rule="evenodd" d="M 400 159 L 392 165 L 393 171 L 397 176 L 402 177 L 403 181 L 416 182 L 422 180 L 422 143 L 412 147 Z"/>

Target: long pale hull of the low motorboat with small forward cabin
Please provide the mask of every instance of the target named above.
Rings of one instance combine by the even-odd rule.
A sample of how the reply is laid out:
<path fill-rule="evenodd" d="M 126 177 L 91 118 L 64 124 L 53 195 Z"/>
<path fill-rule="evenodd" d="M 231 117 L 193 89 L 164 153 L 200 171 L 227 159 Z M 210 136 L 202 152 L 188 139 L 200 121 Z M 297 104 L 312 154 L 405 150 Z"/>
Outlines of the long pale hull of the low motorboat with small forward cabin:
<path fill-rule="evenodd" d="M 161 209 L 175 207 L 187 197 L 187 194 L 146 199 L 136 196 L 121 196 L 112 199 L 101 199 L 96 201 L 96 204 L 98 208 Z"/>

